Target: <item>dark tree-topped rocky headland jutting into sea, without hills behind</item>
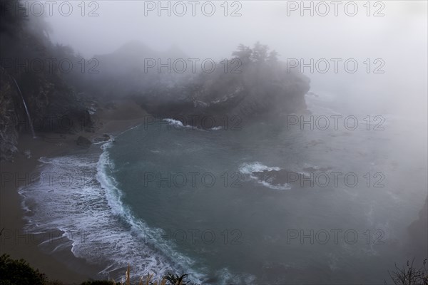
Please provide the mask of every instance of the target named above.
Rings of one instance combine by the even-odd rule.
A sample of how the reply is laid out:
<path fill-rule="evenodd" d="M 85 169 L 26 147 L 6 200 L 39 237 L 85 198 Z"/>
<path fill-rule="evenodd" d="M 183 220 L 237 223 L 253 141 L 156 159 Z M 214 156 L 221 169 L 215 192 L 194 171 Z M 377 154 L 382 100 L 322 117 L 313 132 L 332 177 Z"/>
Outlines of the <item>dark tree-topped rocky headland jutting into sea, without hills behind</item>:
<path fill-rule="evenodd" d="M 261 70 L 255 70 L 260 68 Z M 202 75 L 183 86 L 157 88 L 136 96 L 153 115 L 168 118 L 238 116 L 254 120 L 280 120 L 282 115 L 306 111 L 310 80 L 286 66 L 250 66 L 239 74 Z"/>

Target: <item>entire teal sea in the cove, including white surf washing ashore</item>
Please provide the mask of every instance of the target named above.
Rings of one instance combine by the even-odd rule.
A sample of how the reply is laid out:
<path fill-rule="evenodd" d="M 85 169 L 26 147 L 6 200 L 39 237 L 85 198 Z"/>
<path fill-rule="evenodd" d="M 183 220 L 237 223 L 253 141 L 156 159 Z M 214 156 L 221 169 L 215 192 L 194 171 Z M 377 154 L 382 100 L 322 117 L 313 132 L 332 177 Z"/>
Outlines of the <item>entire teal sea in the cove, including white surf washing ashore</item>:
<path fill-rule="evenodd" d="M 313 130 L 290 118 L 234 130 L 158 120 L 89 152 L 41 157 L 39 182 L 20 190 L 26 229 L 61 230 L 46 250 L 71 244 L 116 280 L 131 264 L 134 276 L 210 284 L 382 283 L 417 254 L 407 227 L 427 194 L 426 123 L 346 113 L 328 94 L 307 103 Z M 332 115 L 359 124 L 336 129 Z M 259 180 L 263 170 L 300 180 Z"/>

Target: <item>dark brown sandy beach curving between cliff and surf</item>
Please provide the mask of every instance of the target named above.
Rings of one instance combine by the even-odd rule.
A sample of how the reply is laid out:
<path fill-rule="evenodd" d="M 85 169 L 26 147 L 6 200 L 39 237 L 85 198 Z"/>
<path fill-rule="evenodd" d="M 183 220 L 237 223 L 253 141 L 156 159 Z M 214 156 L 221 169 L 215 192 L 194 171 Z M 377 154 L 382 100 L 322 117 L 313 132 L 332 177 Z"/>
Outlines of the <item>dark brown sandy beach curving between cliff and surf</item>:
<path fill-rule="evenodd" d="M 63 281 L 66 284 L 80 284 L 94 276 L 101 268 L 87 264 L 85 260 L 73 256 L 70 247 L 61 247 L 54 254 L 42 252 L 39 245 L 43 242 L 55 244 L 61 238 L 61 232 L 28 234 L 24 230 L 26 220 L 21 206 L 19 188 L 34 182 L 40 157 L 56 157 L 70 152 L 81 152 L 76 145 L 79 135 L 94 140 L 104 134 L 118 133 L 143 123 L 148 115 L 132 101 L 121 101 L 115 108 L 98 110 L 95 114 L 96 125 L 91 133 L 81 132 L 61 135 L 58 133 L 36 133 L 37 138 L 21 134 L 19 152 L 13 161 L 1 161 L 0 191 L 0 254 L 9 254 L 14 259 L 25 259 L 31 266 L 44 272 L 49 279 Z M 100 145 L 91 145 L 99 147 Z"/>

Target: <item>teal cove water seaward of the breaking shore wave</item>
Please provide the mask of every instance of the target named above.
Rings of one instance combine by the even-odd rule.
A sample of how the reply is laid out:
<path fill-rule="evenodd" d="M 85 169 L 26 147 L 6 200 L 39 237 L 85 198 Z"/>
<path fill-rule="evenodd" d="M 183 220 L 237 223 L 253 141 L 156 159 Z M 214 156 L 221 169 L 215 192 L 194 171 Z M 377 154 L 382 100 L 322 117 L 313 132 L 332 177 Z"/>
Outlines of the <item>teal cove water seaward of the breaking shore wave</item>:
<path fill-rule="evenodd" d="M 311 103 L 314 114 L 338 114 Z M 215 283 L 368 284 L 387 279 L 389 260 L 416 254 L 408 252 L 407 207 L 425 197 L 417 189 L 426 183 L 417 178 L 427 169 L 424 146 L 422 158 L 392 154 L 381 146 L 394 143 L 390 136 L 365 126 L 316 131 L 263 124 L 228 132 L 156 125 L 121 135 L 109 152 L 136 219 L 163 229 L 158 238 L 203 264 L 194 268 Z M 400 163 L 409 156 L 412 165 Z M 281 169 L 316 177 L 276 185 L 253 175 Z"/>

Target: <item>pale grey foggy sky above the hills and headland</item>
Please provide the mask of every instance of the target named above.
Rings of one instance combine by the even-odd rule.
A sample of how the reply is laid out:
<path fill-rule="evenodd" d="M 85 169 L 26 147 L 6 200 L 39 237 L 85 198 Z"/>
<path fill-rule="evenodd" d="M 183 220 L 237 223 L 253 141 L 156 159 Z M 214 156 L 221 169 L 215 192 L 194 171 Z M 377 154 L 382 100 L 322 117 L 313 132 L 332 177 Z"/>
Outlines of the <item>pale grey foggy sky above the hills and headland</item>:
<path fill-rule="evenodd" d="M 354 93 L 350 101 L 367 100 L 371 105 L 422 108 L 426 116 L 427 1 L 371 1 L 370 11 L 367 1 L 341 1 L 338 6 L 332 1 L 305 1 L 305 6 L 313 6 L 313 16 L 310 9 L 302 10 L 301 1 L 190 2 L 70 1 L 73 11 L 63 16 L 60 1 L 46 20 L 53 27 L 50 36 L 54 42 L 69 44 L 87 58 L 138 40 L 155 50 L 175 45 L 190 58 L 220 59 L 230 57 L 238 43 L 261 41 L 278 51 L 284 61 L 327 59 L 331 64 L 327 73 L 305 70 L 315 90 Z M 169 5 L 171 16 L 168 9 L 159 11 L 159 5 Z M 213 16 L 206 16 L 212 6 Z M 66 14 L 68 4 L 61 7 Z M 88 16 L 91 11 L 98 16 Z M 233 12 L 236 16 L 231 16 Z M 331 58 L 342 59 L 338 73 L 333 71 Z M 343 69 L 349 58 L 359 64 L 356 73 Z M 369 74 L 364 63 L 367 58 Z M 382 62 L 375 64 L 375 59 Z M 381 65 L 379 70 L 384 73 L 374 74 L 374 68 Z M 407 103 L 411 106 L 406 107 Z"/>

